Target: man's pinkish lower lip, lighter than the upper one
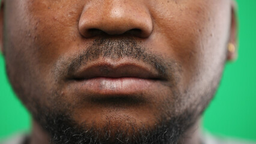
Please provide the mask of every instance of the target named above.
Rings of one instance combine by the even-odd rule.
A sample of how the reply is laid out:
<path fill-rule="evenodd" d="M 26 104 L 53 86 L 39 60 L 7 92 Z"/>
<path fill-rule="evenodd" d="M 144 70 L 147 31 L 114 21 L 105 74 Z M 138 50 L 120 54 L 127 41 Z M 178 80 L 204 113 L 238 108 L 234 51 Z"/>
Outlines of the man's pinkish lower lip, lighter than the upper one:
<path fill-rule="evenodd" d="M 108 78 L 97 77 L 87 80 L 76 80 L 78 91 L 96 95 L 129 95 L 138 94 L 157 85 L 157 80 L 139 79 L 136 77 Z"/>

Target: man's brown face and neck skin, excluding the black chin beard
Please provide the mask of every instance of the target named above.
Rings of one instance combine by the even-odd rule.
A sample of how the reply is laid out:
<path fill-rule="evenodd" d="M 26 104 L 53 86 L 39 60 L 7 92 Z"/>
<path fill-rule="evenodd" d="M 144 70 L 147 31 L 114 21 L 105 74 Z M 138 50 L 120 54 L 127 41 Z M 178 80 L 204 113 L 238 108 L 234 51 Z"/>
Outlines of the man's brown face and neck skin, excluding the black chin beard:
<path fill-rule="evenodd" d="M 44 125 L 59 115 L 111 130 L 109 143 L 178 118 L 173 143 L 200 143 L 201 113 L 236 56 L 231 0 L 5 0 L 1 29 L 8 77 L 34 119 L 31 144 L 49 142 Z"/>

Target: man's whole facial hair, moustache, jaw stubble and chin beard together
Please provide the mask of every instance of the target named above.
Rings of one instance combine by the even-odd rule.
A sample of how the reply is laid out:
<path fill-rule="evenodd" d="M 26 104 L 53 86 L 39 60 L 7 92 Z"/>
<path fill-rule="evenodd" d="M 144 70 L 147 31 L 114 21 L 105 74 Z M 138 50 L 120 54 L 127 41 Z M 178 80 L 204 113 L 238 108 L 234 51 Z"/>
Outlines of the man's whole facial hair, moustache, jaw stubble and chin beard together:
<path fill-rule="evenodd" d="M 216 76 L 209 82 L 211 86 L 206 86 L 206 88 L 202 89 L 200 95 L 196 94 L 196 92 L 195 94 L 193 92 L 183 94 L 177 88 L 178 79 L 180 79 L 177 73 L 180 72 L 179 70 L 181 68 L 180 65 L 177 65 L 177 62 L 171 60 L 163 61 L 163 58 L 160 58 L 160 56 L 145 52 L 145 49 L 139 47 L 139 44 L 132 39 L 114 41 L 100 38 L 94 41 L 91 47 L 88 47 L 81 54 L 74 56 L 74 58 L 63 58 L 63 60 L 60 58 L 61 60 L 56 62 L 52 70 L 53 85 L 64 85 L 63 80 L 66 77 L 72 75 L 74 71 L 78 70 L 82 65 L 86 65 L 87 62 L 99 58 L 133 58 L 152 65 L 163 77 L 168 77 L 168 86 L 171 89 L 171 94 L 165 95 L 165 97 L 174 98 L 175 102 L 168 99 L 162 101 L 162 105 L 157 110 L 161 113 L 156 115 L 157 120 L 153 125 L 138 124 L 138 122 L 134 121 L 122 122 L 122 120 L 114 118 L 106 118 L 103 126 L 97 125 L 96 122 L 86 120 L 82 124 L 78 124 L 72 115 L 69 114 L 72 113 L 72 108 L 76 106 L 70 106 L 70 104 L 65 103 L 61 95 L 61 90 L 59 90 L 61 88 L 53 88 L 49 93 L 44 92 L 44 88 L 47 89 L 47 86 L 43 85 L 46 83 L 43 81 L 37 82 L 36 85 L 34 83 L 26 85 L 20 82 L 17 86 L 16 82 L 19 81 L 17 80 L 19 78 L 14 73 L 9 73 L 8 75 L 14 90 L 31 111 L 35 121 L 49 133 L 51 137 L 50 143 L 179 143 L 180 139 L 186 137 L 184 136 L 184 132 L 197 122 L 201 113 L 203 113 L 212 99 L 218 87 L 222 72 L 221 69 L 216 73 Z M 28 69 L 32 70 L 32 68 Z M 7 70 L 13 71 L 8 67 Z M 36 77 L 40 77 L 40 74 L 35 76 L 35 79 L 37 79 Z M 28 89 L 25 86 L 31 86 L 31 88 Z M 24 92 L 25 89 L 27 91 L 30 90 L 28 94 Z M 50 106 L 41 99 L 41 95 L 38 95 L 40 93 L 41 95 L 50 95 L 48 98 L 50 101 L 47 101 L 50 103 Z M 180 99 L 187 97 L 197 97 L 197 100 L 187 99 L 186 101 L 182 101 Z M 146 101 L 143 98 L 139 99 L 139 97 L 128 99 L 123 102 L 123 100 L 117 100 L 115 98 L 114 104 L 123 103 L 132 106 L 136 102 L 144 103 Z M 101 103 L 100 100 L 96 101 Z M 83 102 L 79 101 L 76 104 L 81 106 Z"/>

